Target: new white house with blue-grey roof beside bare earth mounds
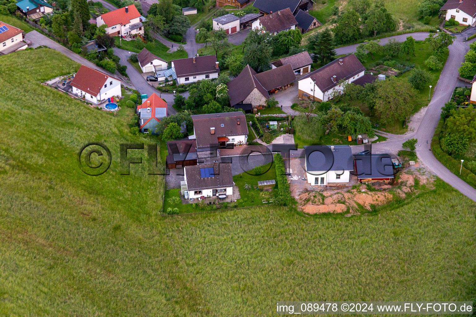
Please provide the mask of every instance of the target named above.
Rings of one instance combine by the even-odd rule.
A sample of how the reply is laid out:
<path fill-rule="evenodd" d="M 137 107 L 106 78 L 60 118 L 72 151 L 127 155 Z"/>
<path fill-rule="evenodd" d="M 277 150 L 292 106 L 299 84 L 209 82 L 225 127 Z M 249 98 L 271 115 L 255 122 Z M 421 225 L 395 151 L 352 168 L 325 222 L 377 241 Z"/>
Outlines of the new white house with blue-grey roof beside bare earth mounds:
<path fill-rule="evenodd" d="M 304 146 L 307 183 L 327 186 L 348 183 L 354 170 L 354 157 L 349 145 Z M 391 162 L 390 162 L 391 163 Z"/>

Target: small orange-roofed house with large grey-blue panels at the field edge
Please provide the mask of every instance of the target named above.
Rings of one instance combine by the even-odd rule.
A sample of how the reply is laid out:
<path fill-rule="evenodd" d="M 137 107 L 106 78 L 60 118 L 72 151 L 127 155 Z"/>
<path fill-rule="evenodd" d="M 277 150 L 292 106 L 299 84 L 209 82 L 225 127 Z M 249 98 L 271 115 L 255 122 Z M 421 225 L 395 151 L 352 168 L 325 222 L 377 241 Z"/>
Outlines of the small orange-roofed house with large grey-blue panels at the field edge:
<path fill-rule="evenodd" d="M 167 103 L 153 93 L 142 105 L 137 106 L 137 114 L 140 132 L 155 134 L 156 125 L 167 116 Z"/>

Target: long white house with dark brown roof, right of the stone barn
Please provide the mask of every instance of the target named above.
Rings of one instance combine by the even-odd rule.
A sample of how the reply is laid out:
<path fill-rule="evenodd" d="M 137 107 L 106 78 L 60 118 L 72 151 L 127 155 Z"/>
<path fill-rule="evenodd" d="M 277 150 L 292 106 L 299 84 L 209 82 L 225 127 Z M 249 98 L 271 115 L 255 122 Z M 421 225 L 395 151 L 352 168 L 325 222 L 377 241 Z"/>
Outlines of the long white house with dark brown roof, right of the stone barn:
<path fill-rule="evenodd" d="M 298 97 L 327 101 L 333 90 L 341 89 L 341 79 L 351 83 L 364 76 L 364 72 L 364 65 L 354 54 L 336 59 L 299 79 Z"/>

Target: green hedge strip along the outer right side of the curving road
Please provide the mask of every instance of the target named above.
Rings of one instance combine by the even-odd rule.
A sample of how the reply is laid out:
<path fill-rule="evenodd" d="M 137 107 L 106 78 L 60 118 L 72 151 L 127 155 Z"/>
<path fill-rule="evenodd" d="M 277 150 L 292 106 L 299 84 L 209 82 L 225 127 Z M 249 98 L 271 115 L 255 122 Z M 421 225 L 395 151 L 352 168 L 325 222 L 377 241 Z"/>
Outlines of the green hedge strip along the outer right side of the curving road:
<path fill-rule="evenodd" d="M 440 134 L 442 129 L 443 120 L 440 120 L 438 126 L 436 127 L 435 134 L 433 135 L 433 139 L 431 140 L 431 150 L 433 155 L 435 155 L 436 159 L 445 165 L 448 170 L 450 170 L 469 185 L 476 188 L 476 175 L 471 173 L 471 171 L 467 170 L 464 166 L 460 175 L 459 169 L 461 168 L 461 161 L 455 160 L 441 149 Z M 276 173 L 278 173 L 278 169 L 276 170 Z"/>

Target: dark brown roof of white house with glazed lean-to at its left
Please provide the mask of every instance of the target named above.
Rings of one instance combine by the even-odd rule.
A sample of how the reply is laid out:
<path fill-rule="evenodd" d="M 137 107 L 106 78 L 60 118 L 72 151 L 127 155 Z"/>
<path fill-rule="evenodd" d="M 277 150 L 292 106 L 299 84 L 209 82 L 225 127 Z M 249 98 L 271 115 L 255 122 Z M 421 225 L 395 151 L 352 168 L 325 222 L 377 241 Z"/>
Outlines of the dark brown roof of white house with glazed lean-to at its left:
<path fill-rule="evenodd" d="M 193 58 L 174 59 L 175 73 L 177 77 L 195 76 L 202 74 L 219 73 L 217 68 L 217 57 L 215 55 L 206 55 Z"/>

